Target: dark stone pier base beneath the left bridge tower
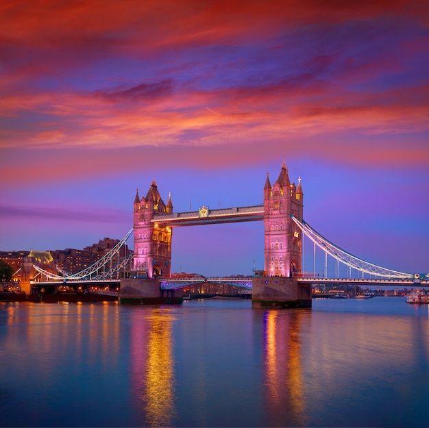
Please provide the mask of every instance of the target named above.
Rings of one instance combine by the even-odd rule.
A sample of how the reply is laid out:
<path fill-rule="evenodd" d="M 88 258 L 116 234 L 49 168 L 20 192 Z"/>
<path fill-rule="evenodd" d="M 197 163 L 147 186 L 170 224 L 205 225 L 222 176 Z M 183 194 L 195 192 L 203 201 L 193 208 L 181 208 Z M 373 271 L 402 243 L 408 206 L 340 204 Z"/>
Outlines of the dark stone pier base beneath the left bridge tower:
<path fill-rule="evenodd" d="M 182 290 L 160 290 L 155 278 L 122 278 L 119 289 L 120 305 L 181 304 Z"/>

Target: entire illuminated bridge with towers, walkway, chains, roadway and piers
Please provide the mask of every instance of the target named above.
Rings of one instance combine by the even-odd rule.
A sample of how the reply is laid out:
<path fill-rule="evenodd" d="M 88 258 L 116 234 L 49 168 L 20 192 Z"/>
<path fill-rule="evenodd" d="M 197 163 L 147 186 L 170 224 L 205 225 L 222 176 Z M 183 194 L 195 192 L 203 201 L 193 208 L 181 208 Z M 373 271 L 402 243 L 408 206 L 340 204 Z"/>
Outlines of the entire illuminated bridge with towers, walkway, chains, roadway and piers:
<path fill-rule="evenodd" d="M 303 207 L 301 179 L 298 179 L 297 186 L 291 183 L 284 162 L 273 185 L 267 173 L 262 205 L 217 210 L 210 210 L 203 205 L 199 210 L 174 212 L 171 194 L 167 204 L 164 203 L 154 180 L 145 197 L 140 198 L 137 190 L 133 227 L 103 259 L 74 275 L 50 273 L 34 266 L 35 278 L 39 286 L 49 281 L 51 284 L 53 281 L 69 284 L 109 279 L 120 281 L 121 299 L 140 299 L 147 303 L 158 301 L 164 292 L 173 297 L 175 293 L 180 294 L 184 286 L 215 282 L 252 288 L 253 305 L 269 307 L 310 307 L 313 284 L 429 286 L 429 274 L 402 273 L 376 266 L 337 247 L 304 221 Z M 242 279 L 171 277 L 171 242 L 175 227 L 243 221 L 264 222 L 264 270 L 260 271 L 260 275 Z M 119 261 L 117 254 L 131 234 L 134 234 L 134 255 Z M 313 243 L 312 276 L 304 274 L 302 267 L 304 236 Z M 325 272 L 322 275 L 316 275 L 316 247 L 325 254 Z M 328 278 L 328 255 L 336 261 L 337 266 L 339 263 L 347 266 L 350 271 L 348 278 L 338 275 Z M 352 278 L 352 269 L 358 277 Z M 336 271 L 338 274 L 338 267 Z"/>

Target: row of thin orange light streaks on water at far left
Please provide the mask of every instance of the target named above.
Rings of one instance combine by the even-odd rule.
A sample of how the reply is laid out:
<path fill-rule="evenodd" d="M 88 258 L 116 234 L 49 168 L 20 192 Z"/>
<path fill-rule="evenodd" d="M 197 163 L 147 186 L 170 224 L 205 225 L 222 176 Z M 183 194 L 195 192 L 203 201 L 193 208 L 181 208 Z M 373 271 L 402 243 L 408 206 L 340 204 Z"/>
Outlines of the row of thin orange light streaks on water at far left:
<path fill-rule="evenodd" d="M 119 310 L 112 304 L 99 306 L 82 303 L 28 303 L 8 305 L 7 324 L 19 327 L 8 330 L 8 344 L 14 349 L 14 333 L 26 337 L 25 352 L 32 364 L 49 364 L 55 353 L 69 353 L 89 362 L 112 360 L 119 349 Z M 88 316 L 89 314 L 89 316 Z M 55 338 L 55 339 L 54 339 Z"/>

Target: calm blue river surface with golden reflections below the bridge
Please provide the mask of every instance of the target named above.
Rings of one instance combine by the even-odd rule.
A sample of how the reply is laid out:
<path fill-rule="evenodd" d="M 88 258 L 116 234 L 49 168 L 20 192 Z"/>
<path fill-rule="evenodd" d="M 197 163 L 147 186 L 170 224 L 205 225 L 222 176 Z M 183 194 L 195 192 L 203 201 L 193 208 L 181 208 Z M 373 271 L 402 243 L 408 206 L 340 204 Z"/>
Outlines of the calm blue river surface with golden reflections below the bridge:
<path fill-rule="evenodd" d="M 428 306 L 3 303 L 0 425 L 429 427 Z"/>

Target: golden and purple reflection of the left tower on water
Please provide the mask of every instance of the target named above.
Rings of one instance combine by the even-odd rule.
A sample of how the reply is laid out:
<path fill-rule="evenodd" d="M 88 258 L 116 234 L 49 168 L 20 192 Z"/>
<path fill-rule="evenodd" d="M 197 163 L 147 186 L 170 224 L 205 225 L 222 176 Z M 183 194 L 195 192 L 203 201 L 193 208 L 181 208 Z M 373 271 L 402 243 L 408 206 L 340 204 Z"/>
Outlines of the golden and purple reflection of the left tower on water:
<path fill-rule="evenodd" d="M 132 322 L 132 379 L 150 427 L 169 427 L 175 417 L 173 313 L 136 310 Z"/>

